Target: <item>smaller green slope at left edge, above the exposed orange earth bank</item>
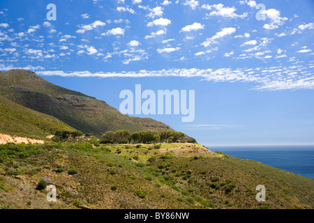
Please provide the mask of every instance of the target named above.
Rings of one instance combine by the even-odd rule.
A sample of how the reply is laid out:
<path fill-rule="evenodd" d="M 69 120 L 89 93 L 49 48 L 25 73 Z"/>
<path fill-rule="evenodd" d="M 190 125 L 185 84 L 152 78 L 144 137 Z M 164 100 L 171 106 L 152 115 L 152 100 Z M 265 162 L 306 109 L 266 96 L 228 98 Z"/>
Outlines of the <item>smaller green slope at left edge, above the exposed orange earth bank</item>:
<path fill-rule="evenodd" d="M 0 95 L 0 133 L 45 138 L 57 130 L 74 129 L 53 116 L 33 111 Z"/>

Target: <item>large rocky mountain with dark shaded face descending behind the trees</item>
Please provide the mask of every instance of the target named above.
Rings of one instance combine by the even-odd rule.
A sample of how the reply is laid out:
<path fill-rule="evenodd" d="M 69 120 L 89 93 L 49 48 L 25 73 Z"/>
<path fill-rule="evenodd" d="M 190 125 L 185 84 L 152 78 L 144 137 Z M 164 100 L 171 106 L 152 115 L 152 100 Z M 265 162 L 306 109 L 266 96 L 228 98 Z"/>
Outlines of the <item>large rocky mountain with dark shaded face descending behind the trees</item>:
<path fill-rule="evenodd" d="M 102 100 L 51 84 L 29 70 L 0 72 L 0 95 L 29 109 L 54 116 L 84 133 L 172 130 L 151 118 L 121 114 Z"/>

